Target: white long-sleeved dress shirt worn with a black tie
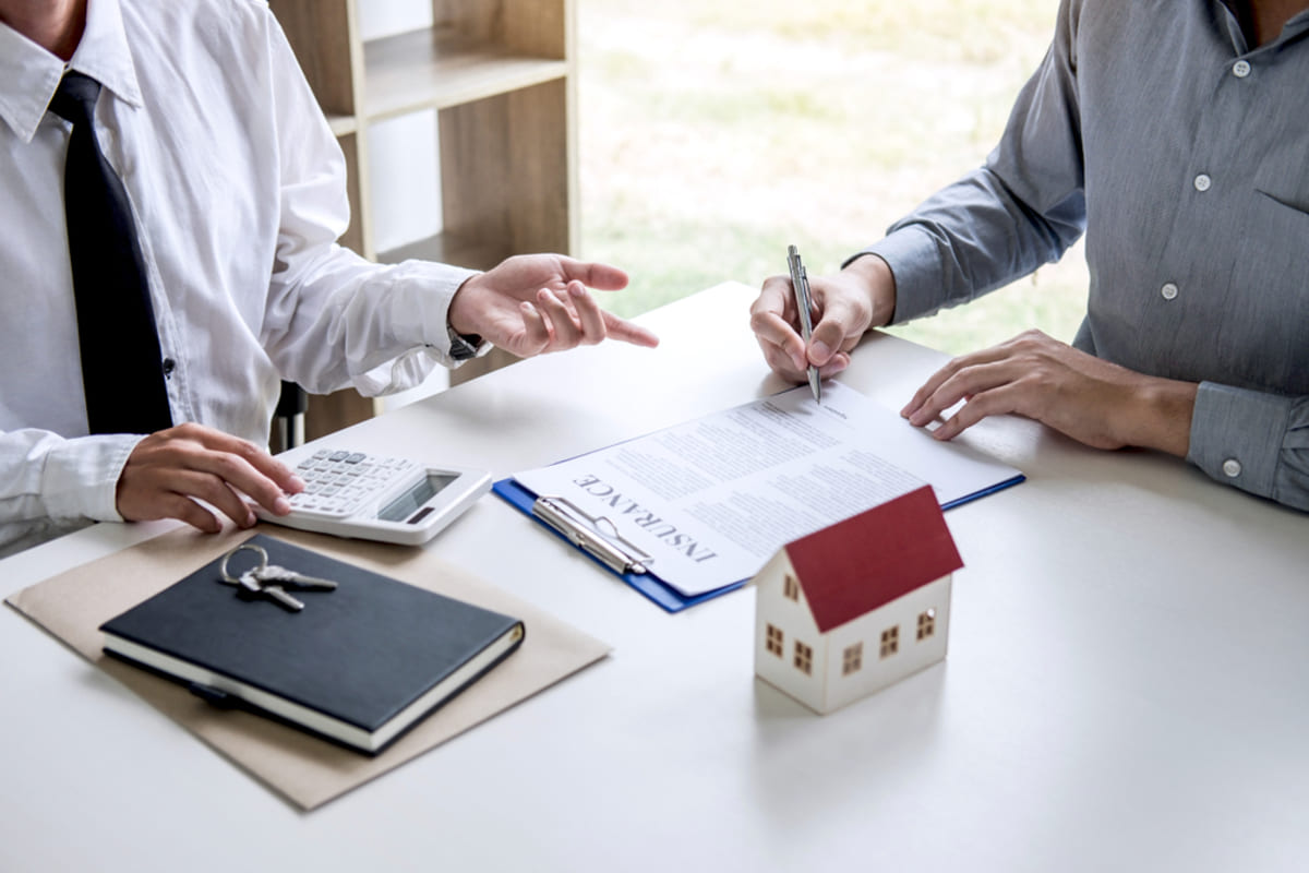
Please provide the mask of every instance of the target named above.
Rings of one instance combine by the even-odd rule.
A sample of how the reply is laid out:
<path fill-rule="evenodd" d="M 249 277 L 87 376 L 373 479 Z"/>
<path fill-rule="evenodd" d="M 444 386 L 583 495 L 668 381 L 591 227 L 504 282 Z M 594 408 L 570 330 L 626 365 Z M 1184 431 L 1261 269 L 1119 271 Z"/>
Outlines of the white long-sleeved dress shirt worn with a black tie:
<path fill-rule="evenodd" d="M 344 60 L 342 62 L 344 63 Z M 0 24 L 0 555 L 117 520 L 140 436 L 88 436 L 63 178 L 67 68 L 98 80 L 174 423 L 266 444 L 280 380 L 368 395 L 452 365 L 473 271 L 369 263 L 336 245 L 346 165 L 266 3 L 90 0 L 72 59 Z"/>

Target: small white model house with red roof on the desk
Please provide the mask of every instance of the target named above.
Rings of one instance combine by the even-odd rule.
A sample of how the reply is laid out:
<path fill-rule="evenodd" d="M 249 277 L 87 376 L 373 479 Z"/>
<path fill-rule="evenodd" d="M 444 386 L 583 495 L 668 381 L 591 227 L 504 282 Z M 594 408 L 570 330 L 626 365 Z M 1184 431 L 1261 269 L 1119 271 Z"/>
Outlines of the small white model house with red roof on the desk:
<path fill-rule="evenodd" d="M 754 670 L 819 713 L 945 657 L 963 561 L 929 487 L 787 543 L 754 577 Z"/>

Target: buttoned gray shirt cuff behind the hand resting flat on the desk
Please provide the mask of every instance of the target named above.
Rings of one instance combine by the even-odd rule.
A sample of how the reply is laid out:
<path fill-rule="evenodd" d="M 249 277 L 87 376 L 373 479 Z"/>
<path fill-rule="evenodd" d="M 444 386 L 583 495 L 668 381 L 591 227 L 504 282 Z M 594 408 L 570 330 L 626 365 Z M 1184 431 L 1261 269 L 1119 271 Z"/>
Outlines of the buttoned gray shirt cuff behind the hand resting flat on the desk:
<path fill-rule="evenodd" d="M 1270 497 L 1289 421 L 1288 398 L 1200 382 L 1186 459 L 1219 482 Z"/>

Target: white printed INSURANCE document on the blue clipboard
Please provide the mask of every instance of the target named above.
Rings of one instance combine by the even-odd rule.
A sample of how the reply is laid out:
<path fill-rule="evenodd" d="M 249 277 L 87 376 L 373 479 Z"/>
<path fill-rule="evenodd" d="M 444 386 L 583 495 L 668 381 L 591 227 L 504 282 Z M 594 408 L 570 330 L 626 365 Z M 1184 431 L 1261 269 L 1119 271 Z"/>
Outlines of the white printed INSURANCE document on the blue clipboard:
<path fill-rule="evenodd" d="M 946 505 L 1021 476 L 829 382 L 822 404 L 802 386 L 514 479 L 607 520 L 654 576 L 694 596 L 923 484 Z"/>

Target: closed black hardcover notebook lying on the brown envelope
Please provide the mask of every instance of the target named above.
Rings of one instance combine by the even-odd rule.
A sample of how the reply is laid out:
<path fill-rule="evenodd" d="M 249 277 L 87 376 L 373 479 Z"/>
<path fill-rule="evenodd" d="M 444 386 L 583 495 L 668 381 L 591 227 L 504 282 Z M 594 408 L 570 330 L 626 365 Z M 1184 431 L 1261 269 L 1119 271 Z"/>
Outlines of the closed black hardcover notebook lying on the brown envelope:
<path fill-rule="evenodd" d="M 247 542 L 338 588 L 291 590 L 305 605 L 292 613 L 224 584 L 217 560 L 105 622 L 105 650 L 376 754 L 522 643 L 516 618 L 262 534 Z"/>

